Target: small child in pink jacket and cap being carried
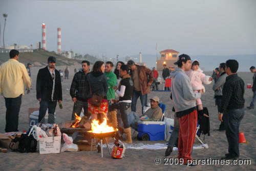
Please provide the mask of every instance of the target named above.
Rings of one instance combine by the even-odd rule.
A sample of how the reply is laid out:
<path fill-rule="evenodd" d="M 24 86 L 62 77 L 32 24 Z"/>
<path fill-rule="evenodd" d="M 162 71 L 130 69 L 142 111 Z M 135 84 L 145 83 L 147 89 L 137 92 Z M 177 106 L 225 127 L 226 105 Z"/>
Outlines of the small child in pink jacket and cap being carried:
<path fill-rule="evenodd" d="M 198 92 L 199 90 L 203 89 L 203 92 L 205 92 L 204 84 L 210 84 L 213 80 L 210 76 L 205 76 L 203 74 L 203 70 L 199 68 L 199 62 L 198 60 L 194 60 L 192 62 L 191 69 L 186 71 L 187 76 L 190 79 L 191 86 L 194 91 Z M 199 114 L 203 114 L 203 105 L 201 99 L 197 99 L 197 107 Z"/>

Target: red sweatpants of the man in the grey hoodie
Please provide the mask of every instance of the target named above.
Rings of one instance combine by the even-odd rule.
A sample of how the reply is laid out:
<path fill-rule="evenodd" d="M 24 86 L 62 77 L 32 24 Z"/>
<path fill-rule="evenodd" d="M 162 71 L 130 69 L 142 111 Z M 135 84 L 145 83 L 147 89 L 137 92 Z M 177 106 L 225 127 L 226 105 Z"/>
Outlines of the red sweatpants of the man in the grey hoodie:
<path fill-rule="evenodd" d="M 187 160 L 192 160 L 191 151 L 197 132 L 197 110 L 179 118 L 179 123 L 178 158 L 183 158 L 184 164 L 187 164 Z"/>

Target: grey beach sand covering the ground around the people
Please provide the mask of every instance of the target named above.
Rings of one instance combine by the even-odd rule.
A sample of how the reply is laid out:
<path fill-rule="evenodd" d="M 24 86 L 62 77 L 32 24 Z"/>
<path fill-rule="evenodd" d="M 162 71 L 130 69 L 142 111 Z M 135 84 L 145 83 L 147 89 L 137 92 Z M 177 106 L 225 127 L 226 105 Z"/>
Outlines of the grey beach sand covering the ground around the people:
<path fill-rule="evenodd" d="M 80 67 L 80 66 L 79 66 Z M 78 69 L 79 67 L 76 66 Z M 56 107 L 56 117 L 67 121 L 71 119 L 73 110 L 73 102 L 69 95 L 70 85 L 74 76 L 74 68 L 70 67 L 70 78 L 62 82 L 63 109 Z M 36 75 L 39 68 L 32 68 L 32 90 L 29 94 L 22 97 L 22 106 L 19 112 L 19 131 L 28 130 L 28 108 L 39 108 L 39 103 L 36 100 Z M 57 69 L 65 69 L 65 66 L 57 67 Z M 206 72 L 207 73 L 207 72 Z M 211 74 L 208 72 L 208 74 Z M 252 74 L 250 72 L 240 72 L 239 76 L 244 80 L 245 84 L 252 82 Z M 214 91 L 212 84 L 206 85 L 206 93 L 202 95 L 203 106 L 207 107 L 210 115 L 210 136 L 205 136 L 205 142 L 208 144 L 208 149 L 193 150 L 193 159 L 221 159 L 227 153 L 228 143 L 225 132 L 214 131 L 218 129 L 220 121 L 218 120 L 218 111 L 213 99 Z M 168 117 L 173 117 L 172 102 L 169 99 L 169 92 L 151 92 L 148 94 L 148 100 L 157 95 L 160 101 L 166 104 Z M 249 105 L 252 96 L 251 89 L 245 87 L 245 107 Z M 0 98 L 0 132 L 4 133 L 5 129 L 5 100 Z M 141 114 L 141 105 L 138 100 L 137 104 L 138 115 Z M 250 165 L 210 165 L 200 164 L 194 167 L 185 165 L 170 165 L 164 164 L 165 150 L 134 150 L 127 149 L 125 158 L 117 160 L 112 159 L 106 149 L 103 149 L 104 157 L 101 158 L 97 152 L 79 151 L 79 152 L 64 152 L 60 154 L 45 154 L 36 153 L 16 153 L 8 151 L 8 153 L 0 153 L 1 170 L 256 170 L 255 165 L 255 139 L 256 139 L 256 109 L 246 110 L 243 120 L 240 125 L 240 132 L 244 132 L 245 138 L 249 143 L 240 144 L 240 159 L 250 159 Z M 201 136 L 203 139 L 203 136 Z M 143 141 L 134 140 L 134 143 Z M 165 141 L 147 141 L 144 144 L 165 143 Z M 198 141 L 195 141 L 198 143 Z M 199 143 L 198 143 L 199 144 Z M 39 149 L 39 146 L 37 147 Z M 178 152 L 174 151 L 169 158 L 176 158 Z M 162 162 L 159 165 L 154 163 L 154 159 L 159 157 Z"/>

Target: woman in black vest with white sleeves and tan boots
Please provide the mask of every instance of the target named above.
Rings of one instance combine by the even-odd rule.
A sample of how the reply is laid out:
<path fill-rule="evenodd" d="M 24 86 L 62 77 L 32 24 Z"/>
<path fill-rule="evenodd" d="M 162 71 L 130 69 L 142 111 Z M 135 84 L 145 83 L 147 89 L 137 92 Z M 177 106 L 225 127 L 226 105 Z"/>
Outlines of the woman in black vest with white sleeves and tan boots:
<path fill-rule="evenodd" d="M 110 116 L 112 125 L 117 127 L 117 118 L 115 109 L 119 109 L 121 118 L 123 121 L 124 134 L 127 135 L 126 143 L 132 143 L 132 135 L 131 135 L 131 127 L 128 123 L 127 118 L 127 109 L 130 108 L 132 103 L 132 93 L 133 93 L 133 81 L 129 74 L 129 67 L 127 65 L 122 65 L 120 67 L 120 76 L 122 80 L 120 81 L 118 89 L 116 89 L 116 93 L 119 95 L 119 102 L 114 103 L 110 106 Z"/>

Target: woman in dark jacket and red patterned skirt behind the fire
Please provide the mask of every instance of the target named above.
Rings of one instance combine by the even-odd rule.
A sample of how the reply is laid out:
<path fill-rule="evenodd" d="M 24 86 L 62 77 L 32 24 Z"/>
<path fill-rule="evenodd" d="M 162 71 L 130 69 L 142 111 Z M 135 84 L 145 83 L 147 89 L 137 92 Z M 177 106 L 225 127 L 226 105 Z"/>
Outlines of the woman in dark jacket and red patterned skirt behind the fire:
<path fill-rule="evenodd" d="M 92 104 L 92 99 L 88 100 L 88 112 L 93 119 L 98 119 L 98 114 L 102 113 L 106 119 L 108 113 L 108 100 L 106 100 L 106 92 L 108 91 L 108 82 L 104 75 L 105 64 L 102 61 L 97 61 L 93 65 L 93 70 L 88 74 L 86 80 L 86 92 L 88 99 L 93 95 L 102 97 L 102 102 L 99 107 Z"/>

